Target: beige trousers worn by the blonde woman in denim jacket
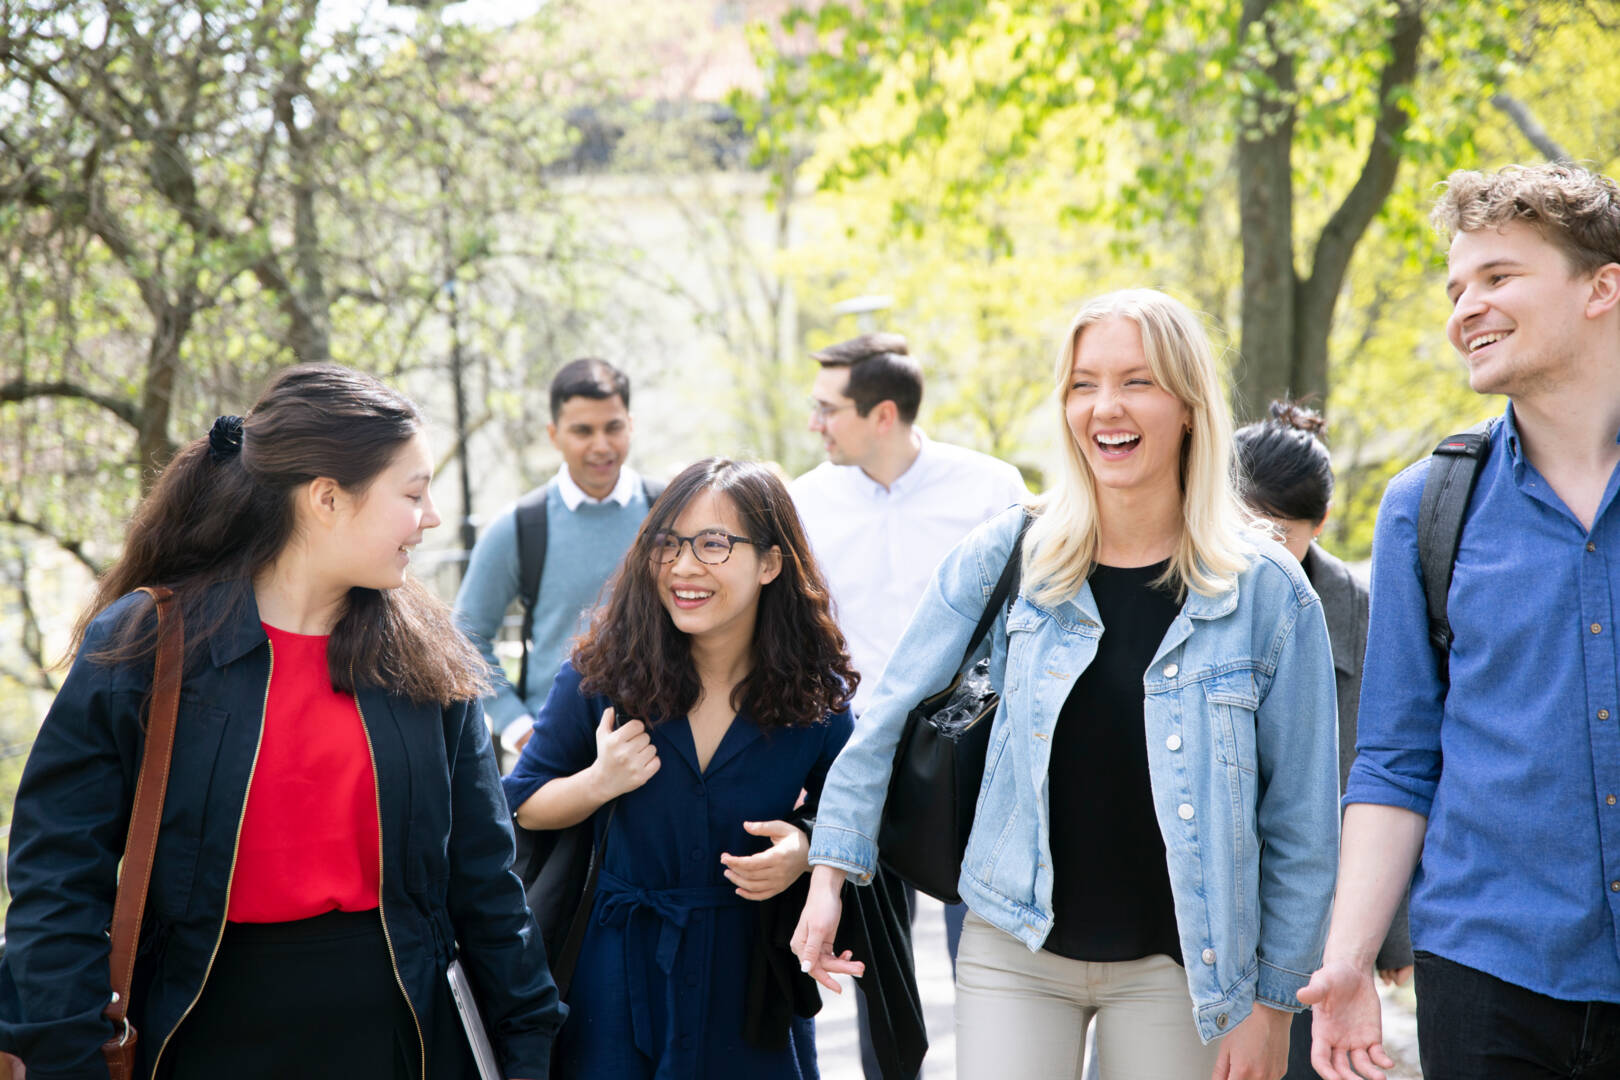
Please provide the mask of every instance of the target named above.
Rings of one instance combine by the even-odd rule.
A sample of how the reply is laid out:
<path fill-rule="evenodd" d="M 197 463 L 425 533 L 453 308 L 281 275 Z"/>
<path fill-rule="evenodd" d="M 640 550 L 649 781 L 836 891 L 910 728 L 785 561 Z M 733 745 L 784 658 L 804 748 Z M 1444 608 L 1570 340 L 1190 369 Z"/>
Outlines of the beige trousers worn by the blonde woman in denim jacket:
<path fill-rule="evenodd" d="M 1170 957 L 1116 963 L 1030 952 L 972 912 L 956 955 L 957 1080 L 1079 1080 L 1092 1017 L 1110 1080 L 1209 1080 L 1218 1046 L 1192 1023 Z"/>

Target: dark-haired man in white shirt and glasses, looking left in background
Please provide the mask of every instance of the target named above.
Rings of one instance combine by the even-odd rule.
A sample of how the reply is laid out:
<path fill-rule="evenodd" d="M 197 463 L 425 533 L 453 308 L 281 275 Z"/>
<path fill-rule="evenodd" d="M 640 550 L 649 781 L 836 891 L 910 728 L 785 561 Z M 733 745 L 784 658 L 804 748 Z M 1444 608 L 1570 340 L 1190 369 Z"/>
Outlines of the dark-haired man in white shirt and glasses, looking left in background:
<path fill-rule="evenodd" d="M 914 427 L 923 379 L 902 335 L 863 334 L 812 359 L 821 371 L 810 389 L 810 431 L 828 460 L 789 491 L 860 672 L 859 716 L 946 552 L 1029 491 L 1006 461 Z M 953 968 L 964 912 L 946 908 Z M 865 999 L 857 994 L 855 1004 L 862 1069 L 876 1080 Z"/>

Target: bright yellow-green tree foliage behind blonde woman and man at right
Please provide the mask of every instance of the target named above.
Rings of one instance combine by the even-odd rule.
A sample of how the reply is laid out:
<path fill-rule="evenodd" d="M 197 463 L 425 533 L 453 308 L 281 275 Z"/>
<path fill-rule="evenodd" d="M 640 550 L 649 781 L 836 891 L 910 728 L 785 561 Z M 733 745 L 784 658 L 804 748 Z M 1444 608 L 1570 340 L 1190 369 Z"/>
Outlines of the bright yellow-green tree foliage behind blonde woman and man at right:
<path fill-rule="evenodd" d="M 954 393 L 941 423 L 1043 384 L 1084 296 L 1158 285 L 1231 329 L 1246 413 L 1285 389 L 1327 405 L 1330 536 L 1361 557 L 1383 481 L 1500 410 L 1443 338 L 1435 183 L 1537 157 L 1489 104 L 1498 92 L 1583 131 L 1571 152 L 1605 165 L 1615 50 L 1594 40 L 1617 26 L 1591 5 L 1518 0 L 831 3 L 784 19 L 755 130 L 761 152 L 815 147 L 805 173 L 839 220 L 862 207 L 859 235 L 812 232 L 795 256 L 818 270 L 807 296 L 894 293 L 896 329 L 941 345 L 972 340 L 991 282 L 1013 300 L 982 335 L 1017 343 L 995 363 L 982 345 L 940 350 Z M 1401 50 L 1411 76 L 1392 81 Z M 1583 92 L 1560 92 L 1571 84 Z M 1268 139 L 1283 139 L 1285 183 L 1257 189 L 1244 162 Z M 1281 275 L 1251 280 L 1265 259 Z M 959 291 L 923 303 L 912 282 L 930 280 Z M 1029 460 L 1051 437 L 1043 408 L 1032 427 L 977 431 Z"/>

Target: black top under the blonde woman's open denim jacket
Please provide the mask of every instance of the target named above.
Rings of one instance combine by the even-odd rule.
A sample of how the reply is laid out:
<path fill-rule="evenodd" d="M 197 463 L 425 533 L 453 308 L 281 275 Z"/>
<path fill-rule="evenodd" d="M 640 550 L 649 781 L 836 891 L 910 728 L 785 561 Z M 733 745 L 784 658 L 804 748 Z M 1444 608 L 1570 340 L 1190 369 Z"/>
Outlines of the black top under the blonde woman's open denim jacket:
<path fill-rule="evenodd" d="M 1071 960 L 1162 952 L 1181 962 L 1142 732 L 1142 675 L 1181 610 L 1173 593 L 1152 588 L 1166 565 L 1092 570 L 1103 636 L 1051 737 L 1055 921 L 1045 949 Z"/>

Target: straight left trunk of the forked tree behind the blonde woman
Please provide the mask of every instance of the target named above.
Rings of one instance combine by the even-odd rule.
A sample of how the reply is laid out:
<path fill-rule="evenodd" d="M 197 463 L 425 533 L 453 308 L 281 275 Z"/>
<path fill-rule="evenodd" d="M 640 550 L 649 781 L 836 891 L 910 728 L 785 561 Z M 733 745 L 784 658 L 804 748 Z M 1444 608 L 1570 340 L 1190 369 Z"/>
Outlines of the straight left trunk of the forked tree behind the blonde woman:
<path fill-rule="evenodd" d="M 1294 138 L 1294 62 L 1280 52 L 1267 15 L 1273 0 L 1244 0 L 1241 39 L 1259 24 L 1264 49 L 1251 49 L 1254 89 L 1238 134 L 1238 209 L 1243 230 L 1241 356 L 1233 390 L 1239 421 L 1265 415 L 1288 392 L 1294 351 L 1294 206 L 1290 151 Z"/>

